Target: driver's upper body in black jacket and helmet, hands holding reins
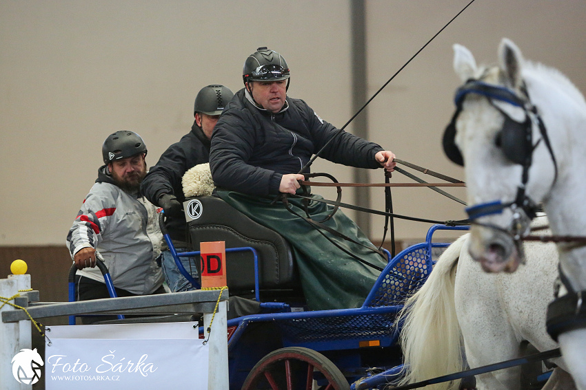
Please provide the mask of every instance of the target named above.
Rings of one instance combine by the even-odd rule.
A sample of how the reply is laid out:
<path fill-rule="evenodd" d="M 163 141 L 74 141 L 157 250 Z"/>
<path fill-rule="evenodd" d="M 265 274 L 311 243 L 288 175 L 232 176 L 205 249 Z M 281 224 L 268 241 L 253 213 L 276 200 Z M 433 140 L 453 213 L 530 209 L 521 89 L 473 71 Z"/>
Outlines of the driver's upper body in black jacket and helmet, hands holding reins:
<path fill-rule="evenodd" d="M 358 168 L 392 171 L 394 154 L 322 120 L 303 100 L 287 97 L 290 73 L 266 47 L 245 62 L 245 88 L 226 107 L 212 140 L 210 167 L 217 186 L 251 195 L 292 193 L 312 155 Z M 336 134 L 337 133 L 337 134 Z M 308 172 L 307 172 L 308 173 Z"/>

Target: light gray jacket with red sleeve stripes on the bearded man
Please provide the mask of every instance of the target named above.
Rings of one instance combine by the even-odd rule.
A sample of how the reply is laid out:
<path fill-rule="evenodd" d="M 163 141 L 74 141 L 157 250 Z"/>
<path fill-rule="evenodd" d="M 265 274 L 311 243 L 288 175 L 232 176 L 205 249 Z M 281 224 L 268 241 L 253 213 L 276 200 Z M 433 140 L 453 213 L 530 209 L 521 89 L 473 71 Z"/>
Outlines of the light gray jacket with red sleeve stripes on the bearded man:
<path fill-rule="evenodd" d="M 156 265 L 161 253 L 157 208 L 145 197 L 132 195 L 99 171 L 97 183 L 85 197 L 67 237 L 73 258 L 82 248 L 95 248 L 108 266 L 117 288 L 133 294 L 152 294 L 163 283 Z M 84 268 L 78 275 L 103 282 L 99 268 Z"/>

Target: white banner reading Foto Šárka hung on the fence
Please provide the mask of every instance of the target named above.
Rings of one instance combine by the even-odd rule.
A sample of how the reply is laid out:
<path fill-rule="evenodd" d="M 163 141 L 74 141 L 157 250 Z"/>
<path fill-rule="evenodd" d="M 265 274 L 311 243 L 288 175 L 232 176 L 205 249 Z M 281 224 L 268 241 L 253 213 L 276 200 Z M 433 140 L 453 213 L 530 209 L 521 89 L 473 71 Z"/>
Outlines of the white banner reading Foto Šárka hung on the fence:
<path fill-rule="evenodd" d="M 52 326 L 46 390 L 208 389 L 196 323 Z"/>

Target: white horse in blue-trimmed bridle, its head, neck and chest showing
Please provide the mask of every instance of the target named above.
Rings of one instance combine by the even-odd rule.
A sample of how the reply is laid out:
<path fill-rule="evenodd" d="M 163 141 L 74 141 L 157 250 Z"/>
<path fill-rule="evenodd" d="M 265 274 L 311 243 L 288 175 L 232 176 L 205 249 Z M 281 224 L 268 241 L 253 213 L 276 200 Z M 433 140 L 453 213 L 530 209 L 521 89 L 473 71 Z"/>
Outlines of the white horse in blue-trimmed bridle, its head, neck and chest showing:
<path fill-rule="evenodd" d="M 470 254 L 485 270 L 512 272 L 523 259 L 518 237 L 527 232 L 532 204 L 543 203 L 554 235 L 586 235 L 586 101 L 556 69 L 525 61 L 508 39 L 494 67 L 476 67 L 461 45 L 454 52 L 465 85 L 456 96 L 452 139 L 465 163 L 469 203 L 476 205 L 469 210 L 477 222 Z M 584 321 L 586 246 L 562 243 L 558 252 L 574 290 L 566 312 Z M 576 387 L 586 390 L 586 328 L 560 327 L 558 341 Z"/>

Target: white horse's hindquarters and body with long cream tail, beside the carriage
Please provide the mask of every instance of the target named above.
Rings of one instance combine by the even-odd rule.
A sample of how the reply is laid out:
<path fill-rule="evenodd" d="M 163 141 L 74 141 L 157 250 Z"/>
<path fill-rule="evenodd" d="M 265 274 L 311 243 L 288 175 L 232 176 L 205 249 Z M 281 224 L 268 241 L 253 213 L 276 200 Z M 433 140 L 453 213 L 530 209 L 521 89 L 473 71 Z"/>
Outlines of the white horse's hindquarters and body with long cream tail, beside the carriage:
<path fill-rule="evenodd" d="M 523 340 L 539 351 L 557 347 L 545 329 L 557 273 L 555 246 L 526 244 L 526 266 L 514 274 L 488 274 L 469 256 L 469 237 L 445 250 L 421 290 L 405 304 L 401 346 L 409 369 L 401 384 L 463 371 L 466 362 L 474 368 L 518 358 Z M 485 373 L 476 376 L 477 387 L 519 389 L 520 376 L 519 367 Z M 458 384 L 426 389 L 458 389 Z M 574 389 L 559 368 L 546 386 Z"/>

